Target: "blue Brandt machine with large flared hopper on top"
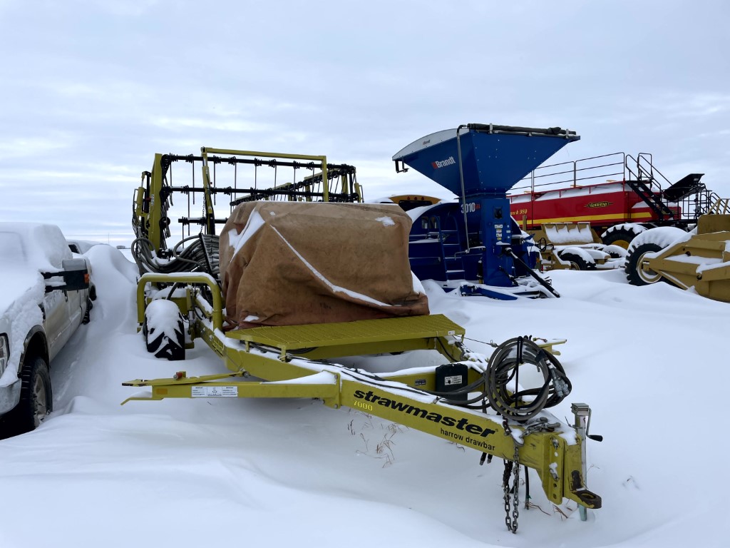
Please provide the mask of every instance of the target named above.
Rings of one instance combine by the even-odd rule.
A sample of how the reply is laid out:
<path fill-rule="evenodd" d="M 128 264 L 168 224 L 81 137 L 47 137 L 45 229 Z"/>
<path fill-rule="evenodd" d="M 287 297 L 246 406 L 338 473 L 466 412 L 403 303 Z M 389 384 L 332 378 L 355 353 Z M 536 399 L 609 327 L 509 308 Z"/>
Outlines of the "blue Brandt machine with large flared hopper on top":
<path fill-rule="evenodd" d="M 456 194 L 409 211 L 411 270 L 445 289 L 504 300 L 559 297 L 535 272 L 539 251 L 510 216 L 507 191 L 569 142 L 575 132 L 468 123 L 415 140 L 393 156 Z"/>

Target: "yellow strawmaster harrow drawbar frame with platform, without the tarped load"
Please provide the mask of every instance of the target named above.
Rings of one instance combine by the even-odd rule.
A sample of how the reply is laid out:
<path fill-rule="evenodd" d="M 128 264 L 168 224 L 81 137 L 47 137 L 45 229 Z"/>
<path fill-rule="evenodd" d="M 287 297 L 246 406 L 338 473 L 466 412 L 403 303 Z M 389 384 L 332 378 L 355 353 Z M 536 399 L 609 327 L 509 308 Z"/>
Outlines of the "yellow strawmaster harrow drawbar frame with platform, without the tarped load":
<path fill-rule="evenodd" d="M 162 400 L 168 397 L 308 397 L 326 406 L 347 406 L 416 430 L 456 441 L 484 456 L 493 455 L 537 471 L 548 499 L 564 498 L 585 509 L 601 507 L 601 498 L 585 487 L 585 427 L 590 410 L 573 404 L 575 424 L 558 421 L 546 411 L 528 420 L 487 414 L 483 406 L 455 405 L 434 395 L 437 368 L 422 367 L 391 373 L 320 361 L 334 357 L 438 351 L 450 364 L 465 366 L 464 384 L 485 378 L 488 363 L 464 346 L 465 330 L 442 315 L 350 321 L 288 327 L 256 327 L 224 332 L 220 289 L 207 274 L 145 274 L 138 285 L 138 327 L 145 322 L 148 283 L 177 284 L 172 296 L 188 318 L 191 339 L 199 338 L 215 351 L 228 373 L 188 377 L 136 379 L 131 387 L 150 387 L 145 397 L 129 400 Z M 206 300 L 203 294 L 212 302 Z M 562 342 L 562 341 L 561 341 Z M 537 345 L 534 345 L 537 348 Z M 550 343 L 542 345 L 550 357 Z M 547 349 L 545 347 L 548 347 Z M 553 358 L 554 359 L 554 358 Z M 252 381 L 250 378 L 265 379 Z M 511 495 L 510 495 L 511 496 Z M 505 490 L 505 497 L 506 490 Z M 514 529 L 516 530 L 516 520 Z"/>

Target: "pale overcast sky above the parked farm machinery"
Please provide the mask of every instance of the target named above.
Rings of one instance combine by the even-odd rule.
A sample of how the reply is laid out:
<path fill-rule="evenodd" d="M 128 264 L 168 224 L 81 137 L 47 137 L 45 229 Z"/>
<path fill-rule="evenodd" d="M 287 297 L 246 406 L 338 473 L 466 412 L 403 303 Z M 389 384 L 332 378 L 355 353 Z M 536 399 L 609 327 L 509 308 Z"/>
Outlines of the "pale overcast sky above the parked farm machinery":
<path fill-rule="evenodd" d="M 730 197 L 726 0 L 0 0 L 0 219 L 128 244 L 154 153 L 326 154 L 366 197 L 460 123 L 574 129 Z"/>

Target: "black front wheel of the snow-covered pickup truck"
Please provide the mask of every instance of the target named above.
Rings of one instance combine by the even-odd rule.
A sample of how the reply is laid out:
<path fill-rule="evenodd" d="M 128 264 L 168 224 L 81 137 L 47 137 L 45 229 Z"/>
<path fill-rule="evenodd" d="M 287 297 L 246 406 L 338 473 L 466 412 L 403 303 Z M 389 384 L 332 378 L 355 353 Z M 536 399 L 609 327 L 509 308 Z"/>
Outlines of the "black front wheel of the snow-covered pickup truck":
<path fill-rule="evenodd" d="M 53 411 L 53 392 L 48 365 L 42 357 L 32 357 L 20 371 L 20 402 L 12 410 L 12 422 L 19 434 L 35 430 Z"/>

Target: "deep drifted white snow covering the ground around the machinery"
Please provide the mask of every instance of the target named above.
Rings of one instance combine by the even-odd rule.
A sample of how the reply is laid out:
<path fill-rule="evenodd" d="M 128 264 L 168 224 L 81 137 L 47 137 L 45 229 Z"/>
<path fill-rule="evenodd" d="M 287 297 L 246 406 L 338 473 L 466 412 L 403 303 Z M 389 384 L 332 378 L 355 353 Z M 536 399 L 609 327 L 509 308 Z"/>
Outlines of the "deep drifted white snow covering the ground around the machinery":
<path fill-rule="evenodd" d="M 588 488 L 604 508 L 557 511 L 532 474 L 533 509 L 504 525 L 502 463 L 312 400 L 119 404 L 132 378 L 220 372 L 201 343 L 185 365 L 157 360 L 135 329 L 136 267 L 88 251 L 99 292 L 91 324 L 53 363 L 55 411 L 0 441 L 0 547 L 721 547 L 730 305 L 621 270 L 552 273 L 560 299 L 496 302 L 426 283 L 431 311 L 469 346 L 516 335 L 566 338 L 570 403 L 593 409 Z M 482 341 L 482 342 L 477 342 Z M 438 361 L 390 358 L 396 367 Z M 384 441 L 388 441 L 384 444 Z M 377 446 L 385 451 L 377 452 Z M 389 448 L 389 449 L 388 449 Z M 538 508 L 539 507 L 539 508 Z"/>

